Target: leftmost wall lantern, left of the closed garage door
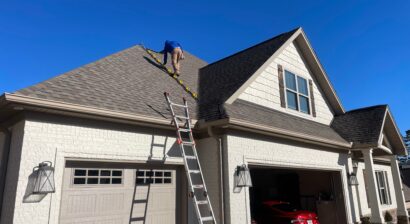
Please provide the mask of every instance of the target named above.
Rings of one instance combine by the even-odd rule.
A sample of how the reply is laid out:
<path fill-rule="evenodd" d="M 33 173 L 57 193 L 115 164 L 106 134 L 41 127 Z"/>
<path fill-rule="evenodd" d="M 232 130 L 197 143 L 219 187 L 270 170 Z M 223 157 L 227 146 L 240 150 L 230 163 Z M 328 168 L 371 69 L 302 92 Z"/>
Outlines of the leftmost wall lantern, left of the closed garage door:
<path fill-rule="evenodd" d="M 55 192 L 54 168 L 52 163 L 45 161 L 34 167 L 36 173 L 33 194 L 47 194 Z"/>

